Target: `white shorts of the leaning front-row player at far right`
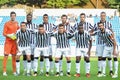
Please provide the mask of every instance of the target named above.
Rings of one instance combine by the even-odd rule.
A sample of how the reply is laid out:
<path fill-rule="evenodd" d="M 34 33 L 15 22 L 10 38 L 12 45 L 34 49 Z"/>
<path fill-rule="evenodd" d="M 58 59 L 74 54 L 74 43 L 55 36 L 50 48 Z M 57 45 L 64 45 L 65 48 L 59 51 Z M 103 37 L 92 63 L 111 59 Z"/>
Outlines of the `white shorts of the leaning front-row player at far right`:
<path fill-rule="evenodd" d="M 118 49 L 116 48 L 116 53 L 118 54 Z M 102 57 L 117 57 L 117 56 L 113 56 L 113 47 L 104 47 L 104 51 L 103 51 L 103 56 Z"/>

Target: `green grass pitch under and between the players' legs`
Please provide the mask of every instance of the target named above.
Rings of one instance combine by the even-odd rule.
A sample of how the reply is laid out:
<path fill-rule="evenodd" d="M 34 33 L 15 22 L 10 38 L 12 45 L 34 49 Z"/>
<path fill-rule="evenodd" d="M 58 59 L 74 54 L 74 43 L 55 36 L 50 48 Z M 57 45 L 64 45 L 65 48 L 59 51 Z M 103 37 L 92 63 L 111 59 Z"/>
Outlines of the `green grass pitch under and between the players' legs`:
<path fill-rule="evenodd" d="M 7 74 L 8 76 L 5 77 L 5 76 L 2 76 L 2 59 L 3 57 L 0 57 L 0 80 L 120 80 L 120 76 L 116 79 L 112 79 L 110 76 L 109 76 L 109 67 L 108 67 L 108 64 L 107 64 L 107 67 L 106 67 L 106 74 L 107 76 L 106 77 L 102 77 L 102 78 L 98 78 L 97 77 L 97 58 L 91 58 L 91 77 L 90 78 L 86 78 L 85 76 L 85 66 L 84 66 L 84 60 L 82 59 L 81 60 L 81 77 L 79 78 L 76 78 L 74 77 L 74 74 L 75 74 L 75 58 L 72 58 L 72 66 L 71 66 L 71 77 L 67 77 L 66 76 L 66 60 L 63 59 L 63 71 L 64 71 L 64 76 L 60 76 L 60 77 L 55 77 L 53 75 L 49 76 L 49 77 L 46 77 L 45 74 L 43 76 L 37 76 L 37 77 L 33 77 L 33 76 L 30 76 L 30 77 L 27 77 L 27 76 L 23 76 L 23 65 L 22 65 L 22 58 L 21 58 L 21 74 L 20 76 L 13 76 L 12 74 L 12 63 L 11 63 L 11 57 L 9 57 L 8 59 L 8 63 L 7 63 Z M 119 62 L 120 62 L 120 59 L 119 59 Z M 119 68 L 120 68 L 120 65 L 119 65 Z M 113 68 L 114 69 L 114 68 Z M 38 71 L 39 71 L 39 67 L 38 67 Z M 120 69 L 119 71 L 120 72 Z M 120 73 L 119 73 L 120 75 Z"/>

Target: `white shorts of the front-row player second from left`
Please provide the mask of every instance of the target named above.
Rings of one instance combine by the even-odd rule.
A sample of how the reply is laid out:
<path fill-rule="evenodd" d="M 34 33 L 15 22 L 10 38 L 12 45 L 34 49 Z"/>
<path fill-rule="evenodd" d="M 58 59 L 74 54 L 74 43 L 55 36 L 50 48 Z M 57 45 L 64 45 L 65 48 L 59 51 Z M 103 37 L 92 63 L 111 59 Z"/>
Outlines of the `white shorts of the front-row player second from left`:
<path fill-rule="evenodd" d="M 34 52 L 34 57 L 40 57 L 40 56 L 49 56 L 49 49 L 48 47 L 45 48 L 35 48 L 35 52 Z"/>

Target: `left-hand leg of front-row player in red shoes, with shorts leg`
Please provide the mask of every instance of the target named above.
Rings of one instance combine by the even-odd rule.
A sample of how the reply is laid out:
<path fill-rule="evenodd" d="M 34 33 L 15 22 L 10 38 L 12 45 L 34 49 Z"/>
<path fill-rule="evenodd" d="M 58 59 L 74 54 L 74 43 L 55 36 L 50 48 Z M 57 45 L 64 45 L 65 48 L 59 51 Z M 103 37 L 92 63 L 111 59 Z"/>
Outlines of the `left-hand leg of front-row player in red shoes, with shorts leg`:
<path fill-rule="evenodd" d="M 81 61 L 81 52 L 80 49 L 76 49 L 76 74 L 74 76 L 80 77 L 80 61 Z"/>

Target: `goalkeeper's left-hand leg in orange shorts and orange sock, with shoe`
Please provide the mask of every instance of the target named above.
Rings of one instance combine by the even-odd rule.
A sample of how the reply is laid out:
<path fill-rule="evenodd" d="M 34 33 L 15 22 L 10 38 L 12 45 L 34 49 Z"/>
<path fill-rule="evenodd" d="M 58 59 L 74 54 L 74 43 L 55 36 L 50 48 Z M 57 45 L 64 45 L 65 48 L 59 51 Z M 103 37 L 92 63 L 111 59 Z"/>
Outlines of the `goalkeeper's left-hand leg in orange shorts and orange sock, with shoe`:
<path fill-rule="evenodd" d="M 11 43 L 10 42 L 5 42 L 4 45 L 4 58 L 3 58 L 3 76 L 7 76 L 6 73 L 6 65 L 7 65 L 7 60 L 8 60 L 8 56 L 11 52 Z"/>

